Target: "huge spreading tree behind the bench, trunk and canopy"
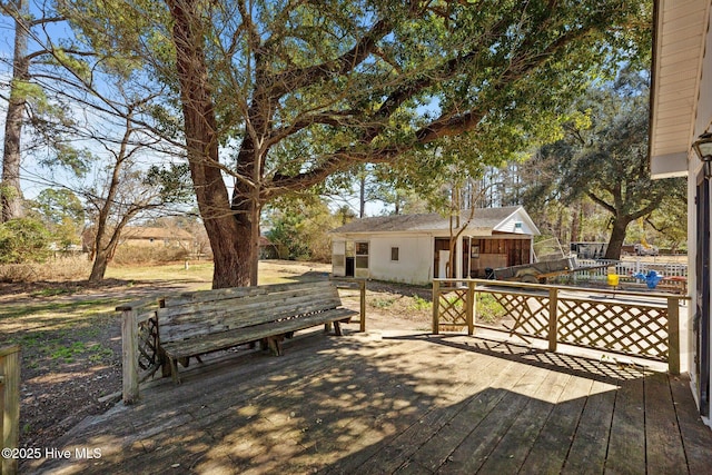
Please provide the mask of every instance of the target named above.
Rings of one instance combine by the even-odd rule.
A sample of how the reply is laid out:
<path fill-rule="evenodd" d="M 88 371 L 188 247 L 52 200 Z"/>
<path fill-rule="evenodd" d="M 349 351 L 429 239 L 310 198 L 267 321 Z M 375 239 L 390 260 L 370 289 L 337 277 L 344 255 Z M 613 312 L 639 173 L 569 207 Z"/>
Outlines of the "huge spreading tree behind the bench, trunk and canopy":
<path fill-rule="evenodd" d="M 510 154 L 550 137 L 604 60 L 635 55 L 637 1 L 73 1 L 95 49 L 168 85 L 215 256 L 214 287 L 256 284 L 270 200 L 362 164 L 414 179 L 447 137 Z M 171 137 L 176 138 L 176 137 Z"/>

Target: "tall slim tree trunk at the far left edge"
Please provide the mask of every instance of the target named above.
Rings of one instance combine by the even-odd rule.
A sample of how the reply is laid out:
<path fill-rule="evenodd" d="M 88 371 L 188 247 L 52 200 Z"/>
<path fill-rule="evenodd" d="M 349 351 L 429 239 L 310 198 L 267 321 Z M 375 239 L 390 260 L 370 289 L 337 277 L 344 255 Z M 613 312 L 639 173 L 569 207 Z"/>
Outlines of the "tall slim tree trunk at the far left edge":
<path fill-rule="evenodd" d="M 27 18 L 29 10 L 27 1 L 16 0 L 19 13 L 14 23 L 14 52 L 12 60 L 12 82 L 10 85 L 10 100 L 4 123 L 4 150 L 2 154 L 2 181 L 0 182 L 0 200 L 2 212 L 0 222 L 22 217 L 22 189 L 20 187 L 20 160 L 22 122 L 24 120 L 26 97 L 23 88 L 30 77 L 27 57 Z"/>

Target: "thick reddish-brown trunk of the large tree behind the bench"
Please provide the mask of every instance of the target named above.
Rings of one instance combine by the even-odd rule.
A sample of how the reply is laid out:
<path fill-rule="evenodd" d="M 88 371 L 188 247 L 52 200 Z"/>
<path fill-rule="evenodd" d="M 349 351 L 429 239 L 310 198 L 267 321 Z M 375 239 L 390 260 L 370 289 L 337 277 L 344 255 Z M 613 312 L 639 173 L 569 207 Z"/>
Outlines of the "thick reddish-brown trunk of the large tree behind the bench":
<path fill-rule="evenodd" d="M 206 227 L 215 271 L 212 288 L 256 284 L 257 269 L 250 238 L 255 226 L 254 206 L 230 207 L 227 187 L 218 167 L 218 137 L 215 107 L 210 95 L 200 17 L 195 3 L 167 0 L 174 18 L 176 67 L 180 82 L 180 100 L 185 119 L 186 148 L 200 216 Z M 259 246 L 259 244 L 257 244 Z"/>

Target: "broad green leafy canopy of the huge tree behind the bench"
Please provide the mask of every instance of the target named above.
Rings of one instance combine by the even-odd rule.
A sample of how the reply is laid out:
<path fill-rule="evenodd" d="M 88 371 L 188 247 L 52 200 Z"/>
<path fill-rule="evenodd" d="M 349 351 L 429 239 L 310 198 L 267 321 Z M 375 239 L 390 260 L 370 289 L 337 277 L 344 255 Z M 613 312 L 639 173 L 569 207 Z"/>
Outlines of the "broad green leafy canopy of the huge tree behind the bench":
<path fill-rule="evenodd" d="M 274 126 L 265 130 L 260 167 L 269 177 L 307 181 L 325 168 L 323 178 L 385 160 L 416 184 L 442 171 L 438 162 L 476 167 L 558 137 L 566 103 L 606 73 L 605 61 L 645 56 L 650 36 L 645 1 L 439 3 L 192 3 L 219 142 L 238 146 L 235 155 L 247 151 L 239 145 L 249 147 L 253 138 L 243 139 L 256 130 L 249 132 L 246 119 L 254 126 L 267 113 Z M 169 6 L 134 0 L 58 8 L 102 58 L 100 68 L 168 86 L 162 103 L 149 109 L 175 137 L 180 115 L 169 108 L 179 103 L 179 71 Z M 342 62 L 356 44 L 367 53 Z M 458 139 L 465 131 L 471 136 Z M 418 154 L 461 141 L 469 152 L 456 159 L 449 150 L 434 161 Z M 239 167 L 233 172 L 254 178 Z M 279 185 L 274 192 L 295 189 Z"/>

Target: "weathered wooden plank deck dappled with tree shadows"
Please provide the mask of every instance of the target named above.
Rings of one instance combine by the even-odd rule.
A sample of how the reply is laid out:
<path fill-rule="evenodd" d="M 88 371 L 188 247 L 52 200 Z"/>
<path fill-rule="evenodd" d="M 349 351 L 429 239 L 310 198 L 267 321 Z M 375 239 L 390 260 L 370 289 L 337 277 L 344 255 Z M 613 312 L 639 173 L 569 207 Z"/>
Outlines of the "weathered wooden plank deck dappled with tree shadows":
<path fill-rule="evenodd" d="M 305 335 L 141 390 L 23 473 L 705 474 L 689 382 L 463 335 Z M 76 448 L 101 457 L 77 458 Z"/>

